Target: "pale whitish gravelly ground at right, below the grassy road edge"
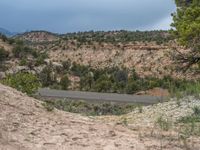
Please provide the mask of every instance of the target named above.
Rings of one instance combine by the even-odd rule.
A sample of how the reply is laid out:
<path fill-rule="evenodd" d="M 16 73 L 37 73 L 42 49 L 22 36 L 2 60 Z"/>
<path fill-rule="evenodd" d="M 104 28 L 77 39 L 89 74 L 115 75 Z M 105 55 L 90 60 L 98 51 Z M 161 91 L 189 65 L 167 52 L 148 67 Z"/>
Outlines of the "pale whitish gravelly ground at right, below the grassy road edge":
<path fill-rule="evenodd" d="M 142 110 L 135 110 L 123 117 L 125 117 L 132 126 L 141 127 L 141 125 L 144 125 L 145 127 L 152 127 L 159 117 L 163 117 L 175 123 L 182 117 L 191 115 L 194 107 L 200 107 L 200 100 L 190 96 L 181 100 L 172 99 L 169 102 L 146 106 L 141 108 Z"/>

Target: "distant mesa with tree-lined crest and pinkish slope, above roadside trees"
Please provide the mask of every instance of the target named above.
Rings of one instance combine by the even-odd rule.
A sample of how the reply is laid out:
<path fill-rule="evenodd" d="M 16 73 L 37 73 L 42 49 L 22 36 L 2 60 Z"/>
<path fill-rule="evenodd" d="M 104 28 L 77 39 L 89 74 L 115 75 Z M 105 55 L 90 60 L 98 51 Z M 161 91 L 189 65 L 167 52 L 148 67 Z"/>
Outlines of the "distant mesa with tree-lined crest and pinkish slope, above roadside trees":
<path fill-rule="evenodd" d="M 185 74 L 177 71 L 173 59 L 175 50 L 187 51 L 178 46 L 167 31 L 91 31 L 64 35 L 35 31 L 16 38 L 34 49 L 46 50 L 49 59 L 61 65 L 70 60 L 93 68 L 134 68 L 142 77 L 198 77 L 190 71 Z"/>

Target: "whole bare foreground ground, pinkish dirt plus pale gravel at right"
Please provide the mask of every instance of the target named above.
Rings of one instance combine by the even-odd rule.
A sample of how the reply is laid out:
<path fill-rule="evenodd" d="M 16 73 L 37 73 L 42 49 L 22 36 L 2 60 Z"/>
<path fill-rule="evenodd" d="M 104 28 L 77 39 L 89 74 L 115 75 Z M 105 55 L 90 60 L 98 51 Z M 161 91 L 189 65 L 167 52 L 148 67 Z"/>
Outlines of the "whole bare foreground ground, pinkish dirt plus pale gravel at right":
<path fill-rule="evenodd" d="M 194 105 L 199 102 L 189 99 L 180 107 L 168 102 L 122 117 L 84 117 L 59 110 L 48 112 L 38 100 L 0 85 L 0 149 L 181 150 L 185 145 L 176 132 L 161 132 L 153 126 L 152 118 L 160 112 L 177 118 L 191 113 Z M 123 121 L 125 117 L 128 123 Z M 199 143 L 197 137 L 188 141 L 194 149 L 200 148 Z"/>

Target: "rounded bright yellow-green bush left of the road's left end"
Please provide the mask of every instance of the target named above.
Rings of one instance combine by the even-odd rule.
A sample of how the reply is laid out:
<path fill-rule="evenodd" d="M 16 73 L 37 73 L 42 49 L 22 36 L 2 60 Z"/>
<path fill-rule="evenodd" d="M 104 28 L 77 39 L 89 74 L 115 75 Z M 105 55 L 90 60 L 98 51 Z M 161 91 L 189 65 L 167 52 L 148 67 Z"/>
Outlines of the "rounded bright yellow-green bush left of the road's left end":
<path fill-rule="evenodd" d="M 8 75 L 2 83 L 27 94 L 35 93 L 41 85 L 37 76 L 31 73 Z"/>

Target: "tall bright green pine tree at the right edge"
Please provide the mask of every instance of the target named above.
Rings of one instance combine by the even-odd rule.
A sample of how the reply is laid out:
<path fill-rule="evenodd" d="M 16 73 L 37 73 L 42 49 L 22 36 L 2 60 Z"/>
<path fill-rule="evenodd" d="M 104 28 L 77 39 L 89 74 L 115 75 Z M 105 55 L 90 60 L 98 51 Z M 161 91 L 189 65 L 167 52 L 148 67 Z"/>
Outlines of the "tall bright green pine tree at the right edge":
<path fill-rule="evenodd" d="M 200 66 L 200 0 L 176 0 L 177 12 L 173 14 L 173 35 L 178 42 L 191 49 L 191 53 L 179 54 L 177 59 L 187 64 Z"/>

